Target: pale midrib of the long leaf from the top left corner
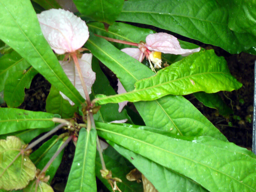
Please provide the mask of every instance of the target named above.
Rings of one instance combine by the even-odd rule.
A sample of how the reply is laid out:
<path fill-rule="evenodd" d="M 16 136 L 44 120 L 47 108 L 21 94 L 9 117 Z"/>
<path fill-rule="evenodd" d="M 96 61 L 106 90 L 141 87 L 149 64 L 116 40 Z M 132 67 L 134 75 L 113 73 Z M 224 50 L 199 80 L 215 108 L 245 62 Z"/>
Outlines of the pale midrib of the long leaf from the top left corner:
<path fill-rule="evenodd" d="M 48 65 L 48 63 L 44 60 L 43 56 L 38 52 L 38 50 L 36 49 L 36 47 L 34 46 L 34 44 L 32 44 L 32 42 L 30 41 L 30 39 L 28 38 L 28 36 L 24 33 L 24 31 L 20 28 L 20 26 L 18 25 L 18 23 L 16 22 L 16 20 L 14 19 L 14 17 L 12 16 L 12 14 L 9 12 L 9 10 L 7 9 L 7 7 L 5 6 L 5 4 L 3 3 L 2 0 L 0 0 L 0 2 L 3 4 L 4 8 L 6 9 L 6 11 L 9 13 L 10 17 L 13 19 L 13 21 L 16 23 L 16 25 L 18 26 L 18 28 L 20 29 L 20 31 L 23 33 L 23 35 L 27 38 L 28 42 L 32 45 L 32 47 L 34 48 L 34 50 L 38 53 L 38 55 L 40 56 L 40 58 L 44 61 L 44 63 L 46 64 L 46 66 L 51 69 L 52 73 L 54 74 L 55 77 L 57 77 L 57 79 L 61 82 L 62 85 L 64 85 L 66 87 L 66 89 L 80 102 L 83 103 L 78 97 L 76 97 L 76 94 L 74 94 L 69 88 L 68 86 L 60 79 L 59 76 L 57 76 L 57 74 L 53 71 L 53 69 Z"/>

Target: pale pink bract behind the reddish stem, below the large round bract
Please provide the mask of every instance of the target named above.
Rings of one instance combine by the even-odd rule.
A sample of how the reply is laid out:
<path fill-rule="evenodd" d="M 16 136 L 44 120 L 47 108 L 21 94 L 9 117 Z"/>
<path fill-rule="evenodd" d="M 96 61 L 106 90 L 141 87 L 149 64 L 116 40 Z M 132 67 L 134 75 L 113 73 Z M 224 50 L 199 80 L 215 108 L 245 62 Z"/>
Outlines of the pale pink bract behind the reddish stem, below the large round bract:
<path fill-rule="evenodd" d="M 92 71 L 92 53 L 84 53 L 81 59 L 78 59 L 78 62 L 82 70 L 82 75 L 84 77 L 87 91 L 90 94 L 92 92 L 92 85 L 96 79 L 96 74 Z M 82 83 L 80 81 L 74 61 L 60 61 L 60 65 L 68 76 L 68 79 L 76 87 L 82 97 L 85 98 Z M 60 92 L 60 94 L 64 99 L 68 100 L 71 105 L 74 105 L 74 103 L 70 99 L 68 99 L 66 95 L 64 95 L 62 92 Z"/>

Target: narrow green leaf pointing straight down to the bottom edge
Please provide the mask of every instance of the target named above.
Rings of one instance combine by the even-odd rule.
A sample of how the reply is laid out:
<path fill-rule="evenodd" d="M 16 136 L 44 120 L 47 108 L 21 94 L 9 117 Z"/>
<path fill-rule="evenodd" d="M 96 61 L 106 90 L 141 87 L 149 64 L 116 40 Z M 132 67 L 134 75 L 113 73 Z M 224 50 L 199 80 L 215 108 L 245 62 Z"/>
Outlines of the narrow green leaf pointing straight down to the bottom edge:
<path fill-rule="evenodd" d="M 75 157 L 65 192 L 97 191 L 95 176 L 96 130 L 79 132 Z"/>

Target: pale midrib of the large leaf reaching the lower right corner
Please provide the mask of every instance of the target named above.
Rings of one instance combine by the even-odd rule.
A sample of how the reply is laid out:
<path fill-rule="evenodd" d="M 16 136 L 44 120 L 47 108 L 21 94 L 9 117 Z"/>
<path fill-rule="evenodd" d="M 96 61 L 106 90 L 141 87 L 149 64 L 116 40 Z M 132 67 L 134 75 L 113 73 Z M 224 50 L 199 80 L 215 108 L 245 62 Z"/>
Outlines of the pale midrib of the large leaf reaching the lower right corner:
<path fill-rule="evenodd" d="M 158 150 L 162 150 L 162 151 L 164 151 L 165 153 L 170 153 L 170 154 L 173 155 L 173 156 L 178 156 L 178 157 L 183 158 L 183 159 L 186 159 L 186 160 L 188 160 L 188 161 L 191 161 L 191 162 L 200 164 L 200 165 L 202 165 L 202 166 L 204 166 L 204 167 L 206 167 L 206 168 L 208 168 L 208 169 L 210 169 L 210 170 L 213 170 L 213 171 L 219 172 L 220 174 L 226 175 L 227 177 L 229 177 L 229 178 L 231 178 L 231 179 L 233 179 L 233 180 L 236 180 L 238 183 L 240 183 L 240 184 L 242 184 L 242 185 L 244 185 L 244 186 L 246 186 L 246 187 L 252 189 L 253 191 L 256 191 L 255 189 L 251 188 L 251 187 L 248 186 L 247 184 L 245 184 L 245 183 L 243 183 L 243 182 L 240 182 L 240 181 L 237 180 L 236 178 L 234 178 L 234 177 L 232 177 L 232 176 L 229 176 L 228 174 L 226 174 L 226 173 L 224 173 L 224 172 L 221 172 L 221 171 L 219 171 L 218 169 L 215 169 L 215 168 L 210 167 L 210 166 L 208 166 L 208 165 L 202 164 L 202 163 L 197 162 L 197 161 L 195 161 L 195 160 L 193 160 L 193 159 L 190 159 L 190 158 L 188 158 L 188 157 L 181 156 L 181 155 L 179 155 L 179 154 L 176 154 L 176 153 L 173 153 L 173 152 L 171 152 L 171 151 L 168 151 L 168 150 L 166 150 L 166 149 L 164 149 L 164 148 L 157 147 L 157 146 L 155 146 L 155 145 L 153 145 L 153 144 L 150 144 L 150 143 L 147 143 L 147 142 L 145 142 L 145 141 L 143 141 L 143 140 L 135 139 L 135 138 L 133 138 L 133 137 L 129 137 L 129 136 L 124 135 L 124 134 L 121 134 L 121 133 L 116 133 L 116 132 L 109 131 L 109 130 L 102 129 L 102 128 L 98 128 L 98 127 L 96 127 L 96 129 L 97 129 L 97 130 L 100 130 L 100 131 L 103 131 L 103 132 L 109 132 L 109 133 L 112 133 L 112 134 L 115 134 L 115 135 L 118 135 L 118 136 L 121 136 L 121 137 L 130 139 L 130 140 L 134 140 L 134 141 L 137 141 L 138 143 L 141 142 L 141 143 L 144 144 L 144 145 L 148 145 L 148 146 L 150 146 L 150 147 L 152 147 L 152 148 L 156 148 L 156 149 L 158 149 Z"/>

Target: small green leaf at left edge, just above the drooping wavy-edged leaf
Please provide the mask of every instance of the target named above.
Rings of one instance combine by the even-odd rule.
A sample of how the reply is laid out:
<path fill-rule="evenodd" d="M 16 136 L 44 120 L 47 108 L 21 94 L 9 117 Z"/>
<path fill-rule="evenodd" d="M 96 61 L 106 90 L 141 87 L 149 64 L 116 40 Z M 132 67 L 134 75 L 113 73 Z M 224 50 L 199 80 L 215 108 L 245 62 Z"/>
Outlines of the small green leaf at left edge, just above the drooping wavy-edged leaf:
<path fill-rule="evenodd" d="M 29 64 L 20 55 L 13 51 L 0 58 L 0 91 L 4 89 L 7 77 L 15 71 L 23 71 L 29 67 Z"/>

